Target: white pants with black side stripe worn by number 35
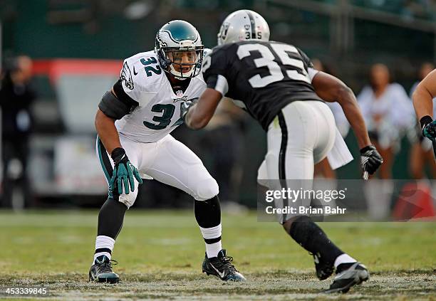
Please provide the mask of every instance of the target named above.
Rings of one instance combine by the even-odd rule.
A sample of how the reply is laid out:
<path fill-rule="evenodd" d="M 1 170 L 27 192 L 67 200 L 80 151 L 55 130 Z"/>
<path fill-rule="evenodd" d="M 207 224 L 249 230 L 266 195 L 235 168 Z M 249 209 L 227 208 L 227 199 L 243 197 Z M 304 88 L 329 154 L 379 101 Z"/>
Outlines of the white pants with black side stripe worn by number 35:
<path fill-rule="evenodd" d="M 321 101 L 295 101 L 286 105 L 271 122 L 267 132 L 268 152 L 258 171 L 258 180 L 269 189 L 280 190 L 283 183 L 278 179 L 305 180 L 286 181 L 286 188 L 311 189 L 313 165 L 320 162 L 332 149 L 336 137 L 333 113 Z M 308 206 L 310 199 L 301 201 Z M 276 199 L 276 208 L 284 208 L 289 200 Z M 279 215 L 284 223 L 291 214 Z"/>

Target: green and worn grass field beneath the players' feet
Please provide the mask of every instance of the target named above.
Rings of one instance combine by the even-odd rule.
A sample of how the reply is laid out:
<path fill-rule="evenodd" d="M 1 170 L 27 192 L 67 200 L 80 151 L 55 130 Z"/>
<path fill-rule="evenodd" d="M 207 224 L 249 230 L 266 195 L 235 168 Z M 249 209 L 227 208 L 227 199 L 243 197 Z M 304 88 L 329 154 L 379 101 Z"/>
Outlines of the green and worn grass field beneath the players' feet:
<path fill-rule="evenodd" d="M 435 223 L 323 223 L 371 273 L 346 295 L 324 295 L 331 280 L 316 279 L 311 256 L 254 213 L 223 217 L 224 248 L 247 282 L 201 273 L 204 243 L 191 211 L 132 209 L 113 253 L 122 282 L 90 283 L 97 214 L 0 211 L 2 290 L 43 285 L 41 300 L 436 300 Z"/>

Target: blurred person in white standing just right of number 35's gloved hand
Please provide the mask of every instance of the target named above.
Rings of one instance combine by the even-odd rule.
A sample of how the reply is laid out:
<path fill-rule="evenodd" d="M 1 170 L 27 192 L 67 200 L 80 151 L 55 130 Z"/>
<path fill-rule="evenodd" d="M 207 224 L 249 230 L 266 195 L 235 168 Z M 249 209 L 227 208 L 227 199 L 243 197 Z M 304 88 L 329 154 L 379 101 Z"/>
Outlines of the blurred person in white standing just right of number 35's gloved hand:
<path fill-rule="evenodd" d="M 400 148 L 400 139 L 413 124 L 412 102 L 404 88 L 390 83 L 386 65 L 375 64 L 370 69 L 370 85 L 358 95 L 371 142 L 383 157 L 380 179 L 392 179 L 393 156 Z"/>

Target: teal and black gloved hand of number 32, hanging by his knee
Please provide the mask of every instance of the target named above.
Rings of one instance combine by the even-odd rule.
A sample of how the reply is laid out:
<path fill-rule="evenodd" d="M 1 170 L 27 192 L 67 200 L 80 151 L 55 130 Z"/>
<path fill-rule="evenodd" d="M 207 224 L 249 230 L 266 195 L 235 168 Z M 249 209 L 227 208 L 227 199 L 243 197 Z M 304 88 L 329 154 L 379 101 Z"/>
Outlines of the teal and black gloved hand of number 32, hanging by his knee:
<path fill-rule="evenodd" d="M 130 163 L 125 150 L 117 147 L 112 151 L 110 157 L 112 157 L 114 163 L 112 178 L 109 183 L 110 190 L 115 191 L 115 189 L 118 189 L 118 194 L 123 194 L 124 186 L 125 194 L 135 191 L 135 179 L 140 184 L 142 184 L 142 179 L 137 168 Z"/>

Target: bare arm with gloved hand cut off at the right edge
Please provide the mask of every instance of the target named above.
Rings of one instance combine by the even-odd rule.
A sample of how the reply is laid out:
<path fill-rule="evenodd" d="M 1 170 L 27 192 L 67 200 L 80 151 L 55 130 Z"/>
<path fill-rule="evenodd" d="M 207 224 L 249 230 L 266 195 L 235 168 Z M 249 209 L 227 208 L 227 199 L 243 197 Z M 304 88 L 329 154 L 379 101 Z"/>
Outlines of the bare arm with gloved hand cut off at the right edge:
<path fill-rule="evenodd" d="M 412 94 L 413 107 L 420 120 L 422 134 L 429 138 L 436 138 L 436 122 L 433 121 L 433 98 L 436 96 L 436 70 L 432 70 L 417 85 Z"/>

